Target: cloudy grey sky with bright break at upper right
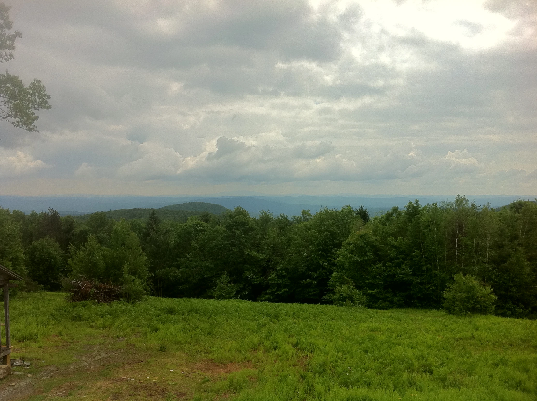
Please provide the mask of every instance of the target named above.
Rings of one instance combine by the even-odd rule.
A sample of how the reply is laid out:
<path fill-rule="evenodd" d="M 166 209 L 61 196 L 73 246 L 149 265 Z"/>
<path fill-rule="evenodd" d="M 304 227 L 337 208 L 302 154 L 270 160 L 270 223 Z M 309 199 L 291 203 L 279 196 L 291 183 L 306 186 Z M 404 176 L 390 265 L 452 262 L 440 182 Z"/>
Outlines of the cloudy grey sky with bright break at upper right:
<path fill-rule="evenodd" d="M 17 0 L 0 194 L 537 194 L 533 0 Z"/>

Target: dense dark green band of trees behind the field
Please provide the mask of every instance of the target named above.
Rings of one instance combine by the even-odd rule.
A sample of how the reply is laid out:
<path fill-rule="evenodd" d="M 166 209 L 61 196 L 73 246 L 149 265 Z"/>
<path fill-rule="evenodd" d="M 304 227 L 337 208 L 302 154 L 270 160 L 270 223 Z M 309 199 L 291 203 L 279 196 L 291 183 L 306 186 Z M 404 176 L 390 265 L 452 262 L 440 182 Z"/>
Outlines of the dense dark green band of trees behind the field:
<path fill-rule="evenodd" d="M 63 277 L 84 275 L 158 296 L 302 303 L 351 288 L 380 309 L 441 308 L 462 273 L 494 290 L 498 315 L 535 317 L 537 202 L 496 210 L 459 195 L 371 218 L 350 206 L 291 218 L 237 207 L 183 223 L 154 211 L 77 221 L 0 208 L 0 264 L 24 274 L 27 288 L 59 290 Z"/>

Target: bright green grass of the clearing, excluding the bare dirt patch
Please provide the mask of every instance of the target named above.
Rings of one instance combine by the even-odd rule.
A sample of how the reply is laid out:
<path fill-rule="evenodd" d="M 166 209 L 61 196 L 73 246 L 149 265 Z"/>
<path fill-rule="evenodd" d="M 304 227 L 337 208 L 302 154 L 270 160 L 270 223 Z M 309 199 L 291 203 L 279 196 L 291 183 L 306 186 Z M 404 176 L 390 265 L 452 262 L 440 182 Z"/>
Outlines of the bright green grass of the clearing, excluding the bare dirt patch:
<path fill-rule="evenodd" d="M 249 364 L 218 381 L 200 379 L 196 400 L 537 399 L 534 320 L 238 300 L 147 297 L 99 305 L 63 298 L 14 297 L 13 345 L 38 353 L 51 339 L 83 345 L 100 333 L 153 350 L 156 360 L 182 353 Z M 62 355 L 55 363 L 69 361 L 69 352 Z"/>

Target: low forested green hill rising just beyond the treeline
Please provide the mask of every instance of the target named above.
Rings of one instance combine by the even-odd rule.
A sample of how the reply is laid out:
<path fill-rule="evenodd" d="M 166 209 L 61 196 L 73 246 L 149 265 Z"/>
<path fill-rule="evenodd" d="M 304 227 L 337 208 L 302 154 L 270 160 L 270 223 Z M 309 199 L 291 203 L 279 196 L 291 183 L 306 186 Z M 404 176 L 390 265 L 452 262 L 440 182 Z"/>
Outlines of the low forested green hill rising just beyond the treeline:
<path fill-rule="evenodd" d="M 216 205 L 215 203 L 207 202 L 186 202 L 178 203 L 177 205 L 164 206 L 159 209 L 153 208 L 133 208 L 133 209 L 117 209 L 109 210 L 104 212 L 106 217 L 113 218 L 114 220 L 119 220 L 120 218 L 125 218 L 126 220 L 133 220 L 135 218 L 141 218 L 146 220 L 149 217 L 149 214 L 155 210 L 156 215 L 161 218 L 161 220 L 172 220 L 180 223 L 186 222 L 187 218 L 190 216 L 199 216 L 204 213 L 212 214 L 222 214 L 228 210 L 227 208 Z M 86 221 L 91 216 L 91 214 L 86 214 L 82 216 L 75 216 L 75 219 L 78 221 Z"/>

